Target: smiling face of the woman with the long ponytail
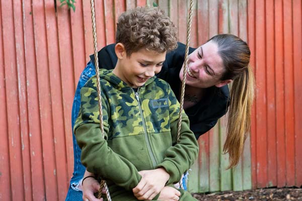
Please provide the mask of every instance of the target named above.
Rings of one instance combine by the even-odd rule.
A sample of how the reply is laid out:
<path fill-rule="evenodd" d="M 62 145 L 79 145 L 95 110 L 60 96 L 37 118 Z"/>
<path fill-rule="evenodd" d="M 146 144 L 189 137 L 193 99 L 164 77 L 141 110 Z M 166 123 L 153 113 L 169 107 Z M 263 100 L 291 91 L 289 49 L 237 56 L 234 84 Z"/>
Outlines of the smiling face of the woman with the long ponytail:
<path fill-rule="evenodd" d="M 179 78 L 183 80 L 182 66 Z M 197 87 L 207 88 L 210 86 L 221 87 L 228 84 L 229 80 L 220 80 L 224 72 L 223 62 L 218 55 L 218 47 L 209 41 L 189 55 L 186 84 Z"/>

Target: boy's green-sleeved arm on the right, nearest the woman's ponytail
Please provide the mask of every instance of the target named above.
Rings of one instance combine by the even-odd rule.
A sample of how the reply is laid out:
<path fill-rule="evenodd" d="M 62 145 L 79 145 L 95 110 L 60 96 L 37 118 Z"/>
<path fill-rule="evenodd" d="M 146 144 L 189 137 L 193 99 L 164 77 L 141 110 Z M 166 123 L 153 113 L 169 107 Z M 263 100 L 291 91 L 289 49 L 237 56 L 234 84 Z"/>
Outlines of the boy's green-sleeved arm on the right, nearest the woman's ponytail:
<path fill-rule="evenodd" d="M 173 146 L 165 152 L 164 160 L 157 167 L 164 167 L 170 174 L 167 185 L 178 182 L 198 156 L 198 143 L 189 127 L 189 118 L 183 112 L 180 139 L 177 143 L 177 125 L 179 119 L 179 103 L 170 88 L 170 128 Z"/>

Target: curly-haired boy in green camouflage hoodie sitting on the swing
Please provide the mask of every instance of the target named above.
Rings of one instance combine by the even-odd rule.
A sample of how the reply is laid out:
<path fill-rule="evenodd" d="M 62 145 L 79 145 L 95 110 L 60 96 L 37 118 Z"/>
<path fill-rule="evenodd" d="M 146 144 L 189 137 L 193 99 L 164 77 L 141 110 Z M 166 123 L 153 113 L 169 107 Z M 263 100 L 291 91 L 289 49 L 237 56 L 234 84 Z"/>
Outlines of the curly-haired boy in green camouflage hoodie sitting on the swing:
<path fill-rule="evenodd" d="M 81 90 L 74 125 L 81 160 L 89 172 L 106 179 L 112 200 L 196 200 L 168 186 L 180 180 L 198 154 L 185 114 L 176 143 L 179 103 L 169 84 L 155 77 L 166 52 L 176 46 L 176 28 L 160 9 L 136 8 L 119 17 L 117 64 L 100 70 L 105 139 L 96 77 Z"/>

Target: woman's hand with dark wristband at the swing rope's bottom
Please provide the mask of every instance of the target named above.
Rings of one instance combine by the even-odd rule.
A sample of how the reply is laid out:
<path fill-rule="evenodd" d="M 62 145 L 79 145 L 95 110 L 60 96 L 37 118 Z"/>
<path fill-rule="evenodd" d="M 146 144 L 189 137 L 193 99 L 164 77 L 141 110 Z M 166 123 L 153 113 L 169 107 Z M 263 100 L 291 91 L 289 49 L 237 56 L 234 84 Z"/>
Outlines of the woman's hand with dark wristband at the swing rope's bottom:
<path fill-rule="evenodd" d="M 87 176 L 93 176 L 93 173 L 90 173 L 86 170 L 84 178 Z M 100 189 L 100 183 L 94 177 L 88 177 L 82 182 L 83 188 L 83 200 L 84 201 L 103 201 L 103 198 L 98 199 L 95 197 L 94 193 L 98 192 Z M 104 194 L 104 190 L 102 191 Z M 106 193 L 106 192 L 105 192 Z"/>

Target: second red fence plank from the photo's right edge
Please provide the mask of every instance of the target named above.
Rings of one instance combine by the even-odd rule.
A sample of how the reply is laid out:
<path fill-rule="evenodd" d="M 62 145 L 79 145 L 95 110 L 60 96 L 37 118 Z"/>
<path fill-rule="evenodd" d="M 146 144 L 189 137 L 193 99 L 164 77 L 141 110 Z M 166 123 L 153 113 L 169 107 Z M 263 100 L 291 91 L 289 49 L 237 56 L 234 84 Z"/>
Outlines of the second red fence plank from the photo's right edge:
<path fill-rule="evenodd" d="M 292 58 L 292 5 L 283 0 L 284 33 L 284 96 L 285 96 L 285 154 L 286 185 L 295 182 L 294 167 L 294 113 L 293 113 L 293 58 Z"/>

